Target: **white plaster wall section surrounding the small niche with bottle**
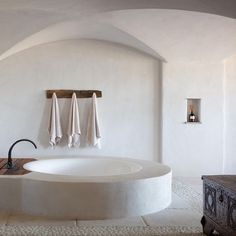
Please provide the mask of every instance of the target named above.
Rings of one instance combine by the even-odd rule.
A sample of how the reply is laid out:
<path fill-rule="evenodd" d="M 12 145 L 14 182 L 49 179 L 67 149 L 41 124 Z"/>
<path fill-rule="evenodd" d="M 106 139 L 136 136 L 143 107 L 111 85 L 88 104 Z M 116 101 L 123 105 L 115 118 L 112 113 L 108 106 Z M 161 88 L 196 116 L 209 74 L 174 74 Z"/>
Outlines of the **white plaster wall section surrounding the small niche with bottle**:
<path fill-rule="evenodd" d="M 163 163 L 178 176 L 223 170 L 223 64 L 163 67 Z M 202 124 L 184 124 L 186 98 L 201 98 Z"/>

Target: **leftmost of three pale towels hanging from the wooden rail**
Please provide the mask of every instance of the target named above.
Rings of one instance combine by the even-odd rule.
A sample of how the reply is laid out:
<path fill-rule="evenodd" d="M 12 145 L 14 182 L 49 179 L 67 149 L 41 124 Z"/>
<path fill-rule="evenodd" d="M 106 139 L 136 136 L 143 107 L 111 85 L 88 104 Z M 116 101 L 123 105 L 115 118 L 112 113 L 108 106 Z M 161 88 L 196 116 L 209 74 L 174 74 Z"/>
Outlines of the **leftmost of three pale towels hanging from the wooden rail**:
<path fill-rule="evenodd" d="M 48 132 L 50 136 L 49 143 L 52 147 L 55 147 L 62 138 L 60 110 L 57 102 L 57 95 L 55 93 L 52 95 Z"/>

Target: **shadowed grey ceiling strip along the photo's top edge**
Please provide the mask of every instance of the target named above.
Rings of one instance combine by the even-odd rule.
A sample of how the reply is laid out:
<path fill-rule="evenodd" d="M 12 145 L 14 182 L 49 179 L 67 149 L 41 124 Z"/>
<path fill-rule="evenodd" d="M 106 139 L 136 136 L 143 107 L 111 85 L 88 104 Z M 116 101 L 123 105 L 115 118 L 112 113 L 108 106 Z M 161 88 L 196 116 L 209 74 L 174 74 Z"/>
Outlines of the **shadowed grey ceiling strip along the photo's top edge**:
<path fill-rule="evenodd" d="M 127 9 L 177 9 L 236 18 L 235 0 L 2 0 L 0 9 L 78 15 Z"/>

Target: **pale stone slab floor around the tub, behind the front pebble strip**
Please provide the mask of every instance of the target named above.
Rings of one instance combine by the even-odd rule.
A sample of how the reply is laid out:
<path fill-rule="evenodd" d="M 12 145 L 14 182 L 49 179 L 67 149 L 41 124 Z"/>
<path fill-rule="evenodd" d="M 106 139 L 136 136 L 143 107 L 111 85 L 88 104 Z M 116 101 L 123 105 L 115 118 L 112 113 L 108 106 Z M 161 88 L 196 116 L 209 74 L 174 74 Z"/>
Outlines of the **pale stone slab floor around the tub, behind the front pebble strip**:
<path fill-rule="evenodd" d="M 181 186 L 185 186 L 192 191 L 191 195 L 197 196 L 198 201 L 202 196 L 202 182 L 200 178 L 174 179 L 178 184 L 173 187 L 171 205 L 155 214 L 114 220 L 53 220 L 25 215 L 0 215 L 0 226 L 184 226 L 201 227 L 201 202 L 196 205 L 192 201 L 192 196 L 188 199 L 188 194 Z M 179 184 L 181 183 L 181 184 Z M 201 200 L 200 200 L 201 201 Z M 194 205 L 195 204 L 195 205 Z M 194 209 L 195 206 L 195 209 Z"/>

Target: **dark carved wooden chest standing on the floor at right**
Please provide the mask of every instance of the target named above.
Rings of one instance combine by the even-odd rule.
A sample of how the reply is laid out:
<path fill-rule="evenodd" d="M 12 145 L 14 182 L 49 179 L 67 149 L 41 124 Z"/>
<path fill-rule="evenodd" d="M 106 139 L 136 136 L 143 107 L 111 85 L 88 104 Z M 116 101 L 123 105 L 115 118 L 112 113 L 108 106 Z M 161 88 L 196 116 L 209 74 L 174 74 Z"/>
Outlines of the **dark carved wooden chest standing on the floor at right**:
<path fill-rule="evenodd" d="M 236 175 L 202 176 L 203 232 L 236 236 Z"/>

